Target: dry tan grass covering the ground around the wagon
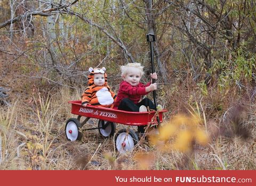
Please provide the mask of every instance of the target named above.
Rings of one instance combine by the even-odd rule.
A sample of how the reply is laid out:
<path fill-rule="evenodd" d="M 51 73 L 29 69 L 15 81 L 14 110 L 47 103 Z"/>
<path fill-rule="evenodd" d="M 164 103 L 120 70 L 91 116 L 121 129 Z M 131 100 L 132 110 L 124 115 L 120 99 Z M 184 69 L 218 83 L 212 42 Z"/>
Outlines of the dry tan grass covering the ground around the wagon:
<path fill-rule="evenodd" d="M 166 94 L 170 93 L 166 92 Z M 201 104 L 195 102 L 195 107 L 187 107 L 191 113 L 183 116 L 174 117 L 174 109 L 168 108 L 170 112 L 165 116 L 165 121 L 171 125 L 163 124 L 163 127 L 169 126 L 169 132 L 165 133 L 167 137 L 164 139 L 164 144 L 162 141 L 162 146 L 165 148 L 162 148 L 161 143 L 160 146 L 152 145 L 143 139 L 132 152 L 119 154 L 114 148 L 114 138 L 103 139 L 97 130 L 84 131 L 82 141 L 66 140 L 65 122 L 70 117 L 74 117 L 70 114 L 70 105 L 67 102 L 71 99 L 79 99 L 79 90 L 70 91 L 63 88 L 58 94 L 41 95 L 37 89 L 34 89 L 32 95 L 33 99 L 30 102 L 14 102 L 11 103 L 11 107 L 0 107 L 1 170 L 256 168 L 255 105 L 247 105 L 246 109 L 237 106 L 232 112 L 226 114 L 224 112 L 221 120 L 209 120 L 209 116 L 204 115 L 205 107 L 202 101 Z M 187 124 L 191 124 L 188 121 L 193 119 L 193 114 L 197 117 L 194 119 L 198 125 L 191 127 Z M 92 120 L 85 127 L 95 124 L 97 121 Z M 239 130 L 241 125 L 246 130 Z M 177 126 L 175 135 L 171 132 L 173 126 Z M 122 128 L 125 128 L 125 125 L 117 125 L 117 130 Z M 222 130 L 223 128 L 225 130 Z M 204 141 L 205 137 L 199 138 L 200 135 L 206 134 L 203 130 L 198 134 L 199 137 L 191 136 L 191 133 L 196 133 L 199 129 L 208 131 L 207 144 Z M 250 132 L 244 135 L 244 131 Z M 175 142 L 177 142 L 176 146 L 173 145 Z M 184 148 L 182 144 L 190 145 Z"/>

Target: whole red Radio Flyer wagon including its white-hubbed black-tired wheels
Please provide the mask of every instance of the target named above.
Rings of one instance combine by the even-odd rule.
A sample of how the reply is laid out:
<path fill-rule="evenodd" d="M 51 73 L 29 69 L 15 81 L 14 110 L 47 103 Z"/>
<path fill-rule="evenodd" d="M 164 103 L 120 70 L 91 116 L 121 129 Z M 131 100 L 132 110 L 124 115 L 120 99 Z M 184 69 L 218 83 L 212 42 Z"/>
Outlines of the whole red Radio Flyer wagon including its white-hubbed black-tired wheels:
<path fill-rule="evenodd" d="M 115 123 L 124 125 L 148 125 L 157 123 L 156 111 L 151 112 L 127 112 L 120 111 L 112 108 L 105 108 L 99 106 L 87 105 L 83 107 L 81 100 L 75 100 L 68 102 L 71 104 L 71 113 L 78 115 L 77 119 L 71 118 L 67 121 L 65 130 L 66 137 L 70 141 L 81 140 L 82 138 L 82 127 L 90 119 L 99 119 L 98 128 L 90 128 L 85 130 L 98 129 L 99 133 L 103 137 L 114 136 L 116 126 Z M 166 110 L 157 111 L 157 117 L 159 122 L 163 121 L 163 113 Z M 86 119 L 81 122 L 81 117 L 85 116 Z M 116 133 L 115 145 L 118 151 L 131 150 L 134 145 L 138 142 L 138 134 L 133 130 L 122 129 Z"/>

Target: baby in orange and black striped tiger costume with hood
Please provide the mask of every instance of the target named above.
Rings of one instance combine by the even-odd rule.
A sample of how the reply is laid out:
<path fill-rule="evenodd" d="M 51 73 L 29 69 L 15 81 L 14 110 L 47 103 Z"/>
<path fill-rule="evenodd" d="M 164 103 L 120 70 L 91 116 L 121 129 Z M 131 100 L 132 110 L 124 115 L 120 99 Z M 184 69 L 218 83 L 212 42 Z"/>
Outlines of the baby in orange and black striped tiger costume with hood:
<path fill-rule="evenodd" d="M 87 104 L 90 104 L 94 106 L 113 108 L 116 95 L 108 86 L 107 74 L 105 71 L 105 67 L 102 67 L 102 69 L 89 68 L 89 87 L 87 87 L 82 94 L 82 106 L 85 107 Z"/>

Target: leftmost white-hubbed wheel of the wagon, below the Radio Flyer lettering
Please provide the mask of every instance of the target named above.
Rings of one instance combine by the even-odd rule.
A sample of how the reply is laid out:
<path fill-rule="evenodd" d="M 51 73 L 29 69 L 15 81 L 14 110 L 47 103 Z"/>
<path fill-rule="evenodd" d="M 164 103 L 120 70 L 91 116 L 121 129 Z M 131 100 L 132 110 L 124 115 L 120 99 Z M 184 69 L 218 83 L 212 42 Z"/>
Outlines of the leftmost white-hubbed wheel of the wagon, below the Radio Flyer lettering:
<path fill-rule="evenodd" d="M 71 118 L 67 121 L 65 131 L 66 138 L 69 141 L 76 141 L 82 139 L 82 126 L 81 123 L 75 118 Z"/>

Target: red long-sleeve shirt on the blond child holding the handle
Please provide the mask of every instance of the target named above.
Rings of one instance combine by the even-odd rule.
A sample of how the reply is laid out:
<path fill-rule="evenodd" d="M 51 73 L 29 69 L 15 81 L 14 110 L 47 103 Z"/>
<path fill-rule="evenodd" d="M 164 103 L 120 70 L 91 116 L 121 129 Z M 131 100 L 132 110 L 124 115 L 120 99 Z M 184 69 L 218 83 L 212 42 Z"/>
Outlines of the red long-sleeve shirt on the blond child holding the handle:
<path fill-rule="evenodd" d="M 141 96 L 147 95 L 149 93 L 146 92 L 146 87 L 148 87 L 150 84 L 151 82 L 148 82 L 147 84 L 139 82 L 137 86 L 133 87 L 126 81 L 122 81 L 119 85 L 118 94 L 114 103 L 114 109 L 118 108 L 120 102 L 124 98 L 129 98 L 134 102 L 134 104 L 137 104 L 141 99 Z"/>

